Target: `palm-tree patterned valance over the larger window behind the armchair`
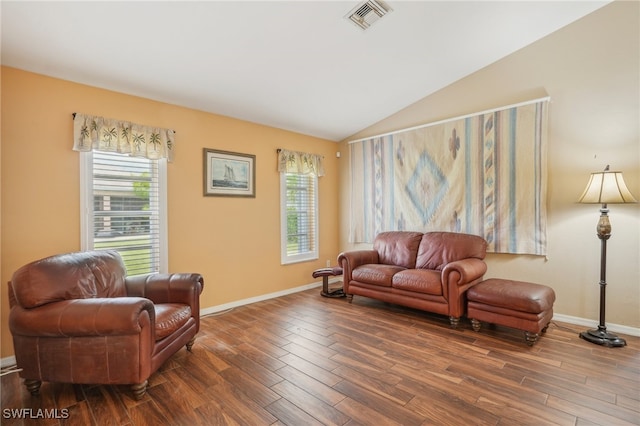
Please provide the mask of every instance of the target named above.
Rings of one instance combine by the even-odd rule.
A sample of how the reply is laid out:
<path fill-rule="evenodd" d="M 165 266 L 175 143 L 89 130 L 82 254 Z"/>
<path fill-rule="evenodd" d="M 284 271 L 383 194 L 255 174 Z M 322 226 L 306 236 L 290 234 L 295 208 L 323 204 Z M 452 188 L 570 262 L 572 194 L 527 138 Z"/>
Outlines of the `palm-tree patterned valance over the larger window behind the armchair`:
<path fill-rule="evenodd" d="M 145 157 L 173 159 L 174 131 L 93 115 L 74 114 L 73 150 L 108 151 Z"/>

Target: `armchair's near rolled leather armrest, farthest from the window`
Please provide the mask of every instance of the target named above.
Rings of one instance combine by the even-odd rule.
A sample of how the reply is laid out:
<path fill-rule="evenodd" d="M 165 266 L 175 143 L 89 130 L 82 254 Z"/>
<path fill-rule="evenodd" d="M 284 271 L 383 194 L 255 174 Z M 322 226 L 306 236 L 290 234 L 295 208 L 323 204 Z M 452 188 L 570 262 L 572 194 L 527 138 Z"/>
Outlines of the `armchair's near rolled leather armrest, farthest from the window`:
<path fill-rule="evenodd" d="M 139 334 L 155 323 L 153 303 L 141 297 L 71 299 L 25 309 L 11 308 L 14 335 L 37 337 L 118 336 Z M 153 326 L 150 327 L 153 333 Z"/>

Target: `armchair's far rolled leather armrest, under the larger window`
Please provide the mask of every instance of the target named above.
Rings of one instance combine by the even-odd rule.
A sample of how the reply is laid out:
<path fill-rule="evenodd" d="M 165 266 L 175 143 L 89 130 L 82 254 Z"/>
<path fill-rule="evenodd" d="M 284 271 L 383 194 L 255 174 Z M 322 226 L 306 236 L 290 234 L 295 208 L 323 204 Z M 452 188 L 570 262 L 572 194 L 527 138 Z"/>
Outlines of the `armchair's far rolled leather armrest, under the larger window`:
<path fill-rule="evenodd" d="M 200 293 L 204 278 L 200 274 L 148 274 L 126 277 L 128 296 L 145 297 L 154 304 L 182 303 L 200 313 Z"/>

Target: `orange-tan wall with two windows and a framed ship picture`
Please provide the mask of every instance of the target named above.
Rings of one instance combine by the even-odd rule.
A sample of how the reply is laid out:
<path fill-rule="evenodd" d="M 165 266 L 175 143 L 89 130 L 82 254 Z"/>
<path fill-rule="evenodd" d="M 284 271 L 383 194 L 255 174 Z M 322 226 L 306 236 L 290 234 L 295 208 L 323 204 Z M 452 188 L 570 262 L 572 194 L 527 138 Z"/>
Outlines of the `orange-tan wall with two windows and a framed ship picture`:
<path fill-rule="evenodd" d="M 79 158 L 71 114 L 81 112 L 176 130 L 168 165 L 169 270 L 205 277 L 201 307 L 314 281 L 338 249 L 335 142 L 2 68 L 2 357 L 13 354 L 6 283 L 21 265 L 80 249 Z M 256 155 L 255 199 L 204 197 L 202 149 Z M 319 179 L 320 259 L 280 265 L 276 149 L 324 155 Z"/>

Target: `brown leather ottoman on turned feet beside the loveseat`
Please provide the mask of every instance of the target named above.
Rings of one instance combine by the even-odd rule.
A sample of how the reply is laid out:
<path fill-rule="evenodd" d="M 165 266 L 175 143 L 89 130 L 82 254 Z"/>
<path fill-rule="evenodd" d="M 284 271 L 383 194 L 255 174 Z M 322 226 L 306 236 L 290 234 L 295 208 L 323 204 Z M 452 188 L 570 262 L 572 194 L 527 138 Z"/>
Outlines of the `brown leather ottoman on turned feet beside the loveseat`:
<path fill-rule="evenodd" d="M 555 300 L 546 285 L 491 278 L 467 291 L 467 317 L 474 331 L 480 331 L 480 321 L 523 330 L 527 345 L 533 346 L 547 331 Z"/>

